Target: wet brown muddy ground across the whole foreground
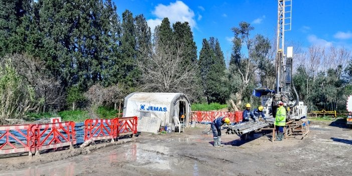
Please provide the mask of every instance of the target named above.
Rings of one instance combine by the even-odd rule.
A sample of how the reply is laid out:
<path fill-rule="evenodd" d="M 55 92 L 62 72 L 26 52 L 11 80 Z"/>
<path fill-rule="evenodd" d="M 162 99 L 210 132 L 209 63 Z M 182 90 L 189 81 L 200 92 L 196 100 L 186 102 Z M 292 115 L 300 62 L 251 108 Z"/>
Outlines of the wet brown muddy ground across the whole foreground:
<path fill-rule="evenodd" d="M 352 129 L 343 122 L 312 121 L 303 140 L 271 142 L 271 133 L 257 132 L 243 142 L 223 134 L 222 148 L 202 133 L 208 126 L 33 157 L 2 155 L 0 175 L 352 175 Z"/>

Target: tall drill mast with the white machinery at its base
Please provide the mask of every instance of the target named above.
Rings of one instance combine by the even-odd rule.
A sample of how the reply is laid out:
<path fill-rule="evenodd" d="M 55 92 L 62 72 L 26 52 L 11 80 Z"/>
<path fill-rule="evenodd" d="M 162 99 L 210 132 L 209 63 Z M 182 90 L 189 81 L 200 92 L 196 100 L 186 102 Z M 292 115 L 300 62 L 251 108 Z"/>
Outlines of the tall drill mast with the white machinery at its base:
<path fill-rule="evenodd" d="M 293 47 L 284 50 L 285 31 L 291 30 L 291 0 L 278 0 L 277 36 L 276 36 L 276 83 L 272 101 L 272 112 L 276 114 L 276 102 L 282 101 L 287 110 L 287 119 L 300 119 L 307 114 L 307 107 L 299 102 L 298 94 L 292 82 Z M 294 91 L 291 91 L 291 88 Z"/>

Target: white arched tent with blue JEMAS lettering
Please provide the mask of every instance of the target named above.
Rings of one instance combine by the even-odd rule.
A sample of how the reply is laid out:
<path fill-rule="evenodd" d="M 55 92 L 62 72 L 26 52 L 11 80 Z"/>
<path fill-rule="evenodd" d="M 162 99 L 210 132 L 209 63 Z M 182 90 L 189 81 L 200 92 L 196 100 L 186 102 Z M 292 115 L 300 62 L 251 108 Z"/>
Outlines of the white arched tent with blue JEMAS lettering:
<path fill-rule="evenodd" d="M 173 117 L 188 124 L 190 112 L 190 100 L 183 93 L 134 92 L 125 97 L 123 107 L 124 117 L 137 116 L 138 122 L 143 117 L 157 117 L 161 120 L 160 126 L 169 128 L 175 125 Z"/>

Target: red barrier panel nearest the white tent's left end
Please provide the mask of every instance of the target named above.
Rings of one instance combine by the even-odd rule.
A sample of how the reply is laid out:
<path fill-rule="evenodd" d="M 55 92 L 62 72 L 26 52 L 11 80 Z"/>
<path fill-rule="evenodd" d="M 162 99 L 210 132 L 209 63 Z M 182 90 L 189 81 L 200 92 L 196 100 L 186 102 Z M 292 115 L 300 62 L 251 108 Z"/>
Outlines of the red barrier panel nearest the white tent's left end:
<path fill-rule="evenodd" d="M 118 121 L 117 136 L 137 134 L 137 121 L 138 117 L 120 117 L 116 118 Z"/>

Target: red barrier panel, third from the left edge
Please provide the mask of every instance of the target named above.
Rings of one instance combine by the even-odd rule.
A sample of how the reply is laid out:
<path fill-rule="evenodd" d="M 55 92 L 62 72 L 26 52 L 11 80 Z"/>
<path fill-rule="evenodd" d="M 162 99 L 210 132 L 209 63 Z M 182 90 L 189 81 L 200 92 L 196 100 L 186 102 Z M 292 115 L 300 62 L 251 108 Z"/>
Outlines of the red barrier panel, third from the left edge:
<path fill-rule="evenodd" d="M 116 119 L 86 119 L 84 121 L 84 141 L 116 138 L 116 126 Z"/>

